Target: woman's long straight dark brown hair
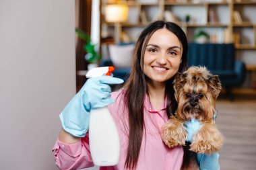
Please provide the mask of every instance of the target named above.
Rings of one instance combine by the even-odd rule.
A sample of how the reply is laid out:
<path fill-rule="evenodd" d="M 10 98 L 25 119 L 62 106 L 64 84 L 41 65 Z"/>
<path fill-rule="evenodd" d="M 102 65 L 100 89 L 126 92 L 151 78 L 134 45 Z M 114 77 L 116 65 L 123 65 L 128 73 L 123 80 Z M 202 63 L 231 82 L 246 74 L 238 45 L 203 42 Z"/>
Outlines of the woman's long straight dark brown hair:
<path fill-rule="evenodd" d="M 148 94 L 146 76 L 143 73 L 143 56 L 146 51 L 146 44 L 156 30 L 166 28 L 179 38 L 182 46 L 182 62 L 179 67 L 179 72 L 187 69 L 187 37 L 183 30 L 172 22 L 156 21 L 149 24 L 140 34 L 133 54 L 133 65 L 131 74 L 125 84 L 125 104 L 129 112 L 129 144 L 127 148 L 127 157 L 125 168 L 135 169 L 139 158 L 139 151 L 143 137 L 144 120 L 143 120 L 143 103 L 144 97 Z M 172 81 L 174 77 L 166 82 L 166 113 L 168 117 L 174 114 L 177 110 L 177 101 L 174 98 L 174 89 Z"/>

